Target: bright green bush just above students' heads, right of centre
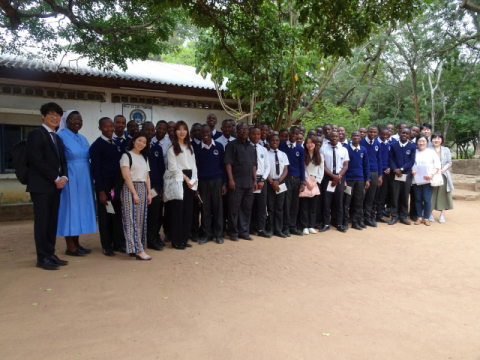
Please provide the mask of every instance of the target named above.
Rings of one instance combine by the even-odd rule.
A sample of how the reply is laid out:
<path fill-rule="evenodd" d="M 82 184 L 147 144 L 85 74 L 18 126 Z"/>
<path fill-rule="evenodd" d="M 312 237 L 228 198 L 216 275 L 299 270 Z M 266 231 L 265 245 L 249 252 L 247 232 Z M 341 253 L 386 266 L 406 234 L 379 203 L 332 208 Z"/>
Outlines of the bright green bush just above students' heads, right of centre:
<path fill-rule="evenodd" d="M 337 106 L 326 100 L 323 103 L 316 103 L 314 111 L 308 113 L 301 124 L 307 130 L 315 129 L 318 125 L 336 124 L 345 126 L 347 133 L 350 134 L 361 126 L 370 125 L 370 116 L 368 109 L 361 108 L 358 112 L 352 113 L 348 105 Z"/>

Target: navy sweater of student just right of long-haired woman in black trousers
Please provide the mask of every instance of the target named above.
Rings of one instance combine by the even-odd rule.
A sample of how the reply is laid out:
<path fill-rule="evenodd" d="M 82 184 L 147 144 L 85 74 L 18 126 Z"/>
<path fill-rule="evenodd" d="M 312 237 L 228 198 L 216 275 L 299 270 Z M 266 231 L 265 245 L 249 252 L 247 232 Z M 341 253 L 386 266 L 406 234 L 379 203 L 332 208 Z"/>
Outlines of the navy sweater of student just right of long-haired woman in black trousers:
<path fill-rule="evenodd" d="M 215 143 L 215 145 L 213 145 Z M 195 162 L 197 163 L 198 179 L 200 181 L 210 181 L 222 179 L 223 183 L 227 183 L 227 173 L 225 171 L 225 150 L 223 145 L 212 140 L 210 149 L 202 148 L 202 144 L 194 146 Z"/>

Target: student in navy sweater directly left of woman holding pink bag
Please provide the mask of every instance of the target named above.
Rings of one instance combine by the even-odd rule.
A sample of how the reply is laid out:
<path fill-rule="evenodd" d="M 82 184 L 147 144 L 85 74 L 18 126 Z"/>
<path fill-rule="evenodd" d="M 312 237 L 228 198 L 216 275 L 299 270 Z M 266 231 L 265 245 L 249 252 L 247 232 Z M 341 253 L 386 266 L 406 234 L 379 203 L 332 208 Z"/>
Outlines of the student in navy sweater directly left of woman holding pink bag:
<path fill-rule="evenodd" d="M 292 126 L 289 139 L 280 143 L 278 148 L 287 154 L 289 162 L 288 175 L 285 179 L 287 191 L 285 194 L 282 231 L 287 237 L 290 234 L 303 236 L 303 233 L 297 229 L 299 194 L 305 189 L 305 150 L 297 144 L 299 134 L 300 129 L 297 126 Z"/>

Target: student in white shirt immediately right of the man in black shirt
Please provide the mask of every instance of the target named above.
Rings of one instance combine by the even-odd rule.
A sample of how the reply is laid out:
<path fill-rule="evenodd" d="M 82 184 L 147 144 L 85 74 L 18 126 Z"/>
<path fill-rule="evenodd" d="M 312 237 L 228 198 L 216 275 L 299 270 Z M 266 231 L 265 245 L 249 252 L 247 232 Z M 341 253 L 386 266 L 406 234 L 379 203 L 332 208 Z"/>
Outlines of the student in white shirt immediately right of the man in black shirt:
<path fill-rule="evenodd" d="M 258 236 L 270 238 L 272 235 L 265 231 L 267 221 L 267 188 L 266 180 L 270 173 L 270 162 L 268 161 L 268 150 L 260 145 L 260 129 L 254 127 L 250 130 L 250 145 L 257 154 L 257 190 L 260 193 L 253 194 L 253 207 L 250 216 L 250 234 L 258 233 Z"/>

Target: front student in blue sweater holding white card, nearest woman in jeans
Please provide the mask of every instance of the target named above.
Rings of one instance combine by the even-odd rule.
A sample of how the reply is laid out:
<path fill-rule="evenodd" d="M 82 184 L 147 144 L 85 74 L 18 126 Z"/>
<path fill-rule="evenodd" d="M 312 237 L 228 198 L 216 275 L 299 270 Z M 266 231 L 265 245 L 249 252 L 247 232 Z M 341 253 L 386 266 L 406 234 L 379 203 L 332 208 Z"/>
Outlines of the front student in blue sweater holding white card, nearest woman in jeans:
<path fill-rule="evenodd" d="M 403 128 L 400 132 L 400 141 L 390 145 L 389 164 L 394 176 L 391 184 L 391 212 L 392 219 L 388 225 L 400 222 L 410 225 L 407 220 L 408 195 L 412 185 L 412 167 L 415 164 L 416 146 L 408 141 L 410 129 Z"/>

